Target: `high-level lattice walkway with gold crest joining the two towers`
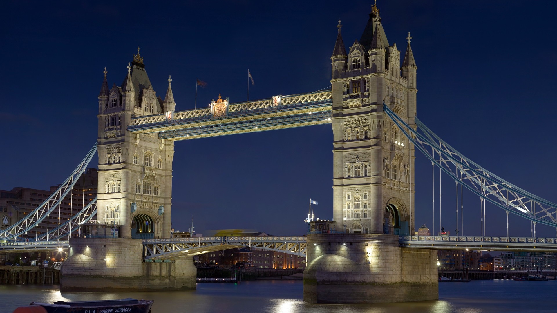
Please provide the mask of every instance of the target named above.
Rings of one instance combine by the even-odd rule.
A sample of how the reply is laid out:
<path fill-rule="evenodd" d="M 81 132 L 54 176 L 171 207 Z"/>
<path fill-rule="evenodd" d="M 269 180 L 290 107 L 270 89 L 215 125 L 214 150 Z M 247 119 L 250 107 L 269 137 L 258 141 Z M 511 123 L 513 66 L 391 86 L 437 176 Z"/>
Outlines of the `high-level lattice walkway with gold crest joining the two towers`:
<path fill-rule="evenodd" d="M 223 116 L 213 116 L 210 107 L 177 111 L 170 119 L 165 114 L 138 116 L 131 119 L 128 130 L 158 133 L 164 140 L 187 140 L 327 124 L 331 123 L 331 94 L 324 90 L 229 104 Z"/>

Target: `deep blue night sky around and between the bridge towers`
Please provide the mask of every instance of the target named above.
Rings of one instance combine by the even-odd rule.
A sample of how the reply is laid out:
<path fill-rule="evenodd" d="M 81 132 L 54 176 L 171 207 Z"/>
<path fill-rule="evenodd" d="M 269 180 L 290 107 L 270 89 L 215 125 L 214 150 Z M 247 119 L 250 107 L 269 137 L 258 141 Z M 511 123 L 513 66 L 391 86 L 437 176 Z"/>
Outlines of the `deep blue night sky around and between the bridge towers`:
<path fill-rule="evenodd" d="M 346 49 L 373 1 L 8 1 L 0 13 L 0 189 L 60 184 L 95 143 L 102 71 L 120 85 L 140 46 L 157 95 L 172 75 L 176 110 L 206 107 L 219 93 L 250 99 L 330 86 L 342 20 Z M 554 89 L 557 2 L 377 3 L 389 43 L 408 32 L 418 65 L 418 118 L 491 172 L 551 202 L 555 194 Z M 401 56 L 401 59 L 403 56 Z M 309 198 L 332 218 L 330 125 L 176 141 L 173 227 L 305 233 Z M 91 164 L 96 166 L 96 158 Z M 438 169 L 436 169 L 438 180 Z M 443 226 L 455 227 L 455 183 L 443 174 Z M 432 224 L 431 163 L 416 155 L 416 228 Z M 438 181 L 436 182 L 436 185 Z M 436 214 L 438 214 L 436 187 Z M 480 234 L 480 199 L 465 195 L 465 235 Z M 487 206 L 487 236 L 505 236 L 506 215 Z M 436 231 L 438 219 L 436 217 Z M 512 217 L 510 236 L 530 236 Z M 538 237 L 555 229 L 538 226 Z"/>

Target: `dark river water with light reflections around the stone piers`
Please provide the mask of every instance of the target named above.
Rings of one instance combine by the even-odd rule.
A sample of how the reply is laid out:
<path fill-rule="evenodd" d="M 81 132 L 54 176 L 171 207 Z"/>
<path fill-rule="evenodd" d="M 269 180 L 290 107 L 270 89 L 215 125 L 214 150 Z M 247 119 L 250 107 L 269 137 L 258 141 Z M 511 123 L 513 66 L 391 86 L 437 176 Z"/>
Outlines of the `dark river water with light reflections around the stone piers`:
<path fill-rule="evenodd" d="M 198 283 L 195 291 L 63 293 L 58 286 L 0 286 L 0 312 L 11 313 L 31 301 L 155 300 L 153 313 L 221 312 L 557 312 L 557 281 L 477 280 L 439 283 L 439 300 L 373 305 L 307 304 L 301 281 Z"/>

